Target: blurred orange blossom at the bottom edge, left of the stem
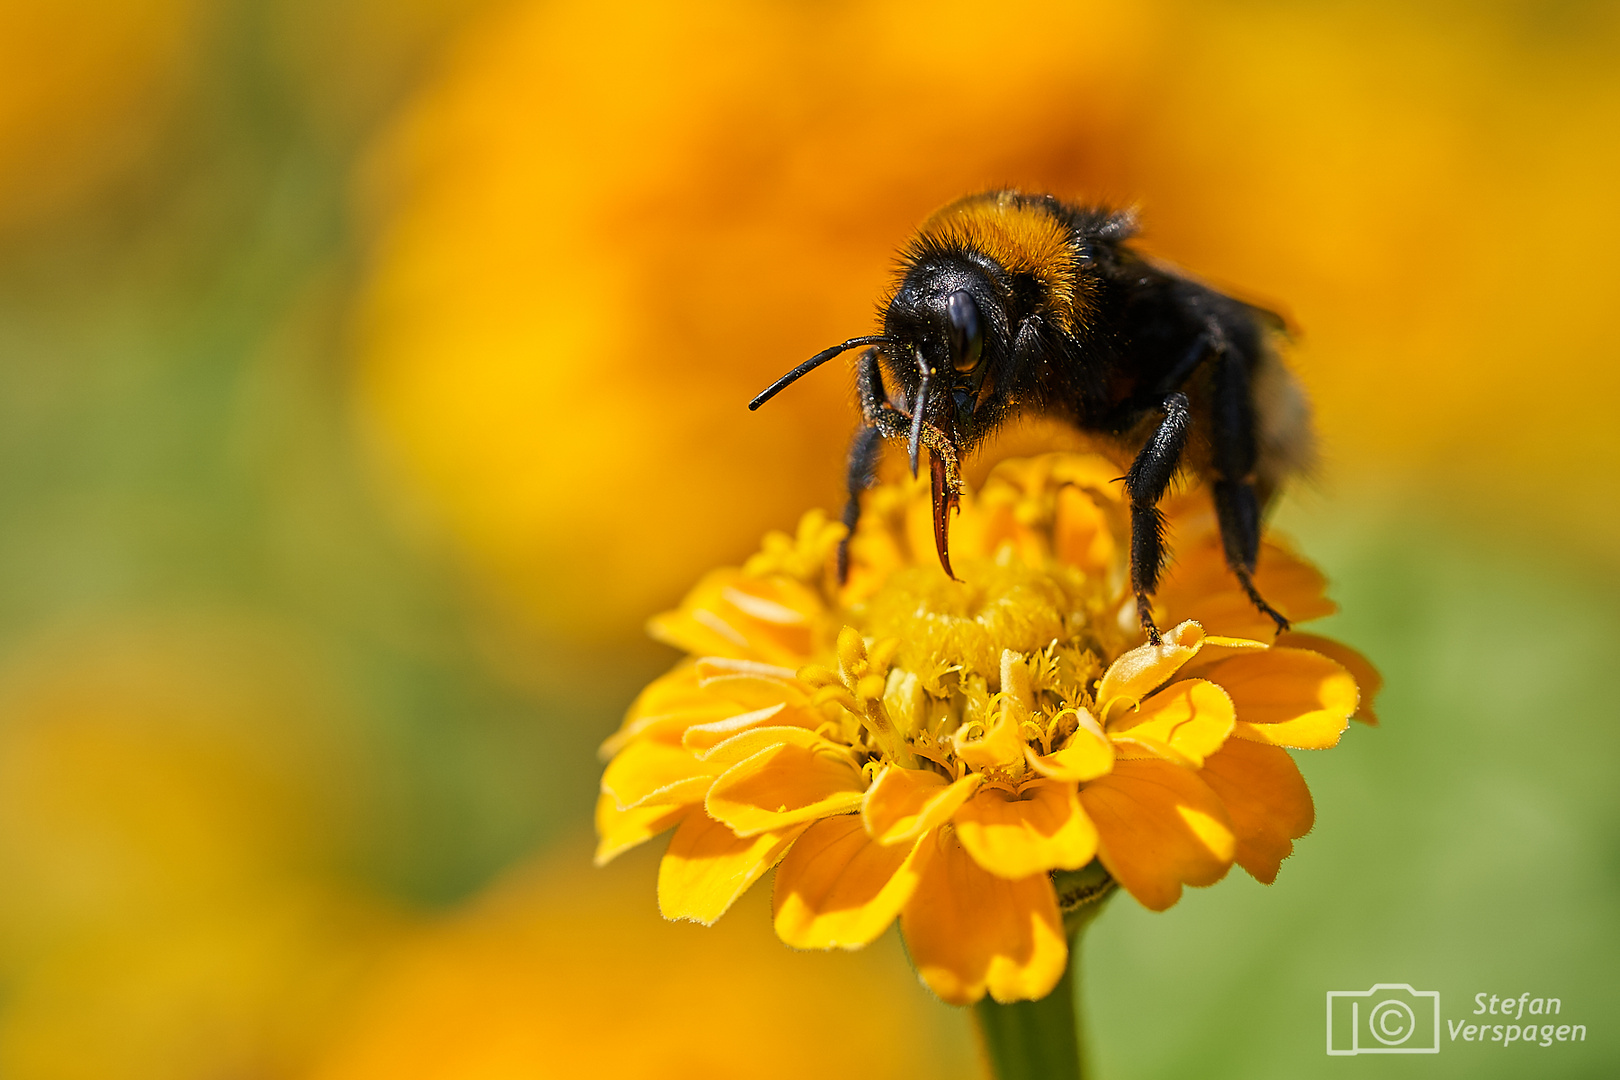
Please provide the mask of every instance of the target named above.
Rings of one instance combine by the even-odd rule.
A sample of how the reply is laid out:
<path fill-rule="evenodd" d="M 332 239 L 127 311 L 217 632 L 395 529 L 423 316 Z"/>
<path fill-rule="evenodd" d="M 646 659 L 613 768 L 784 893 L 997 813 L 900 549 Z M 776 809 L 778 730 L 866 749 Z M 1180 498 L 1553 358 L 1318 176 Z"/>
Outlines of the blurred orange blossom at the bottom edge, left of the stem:
<path fill-rule="evenodd" d="M 583 852 L 518 868 L 376 967 L 314 1080 L 941 1080 L 967 1033 L 888 955 L 797 957 L 758 920 L 680 933 Z M 907 1038 L 805 1038 L 847 1027 Z"/>

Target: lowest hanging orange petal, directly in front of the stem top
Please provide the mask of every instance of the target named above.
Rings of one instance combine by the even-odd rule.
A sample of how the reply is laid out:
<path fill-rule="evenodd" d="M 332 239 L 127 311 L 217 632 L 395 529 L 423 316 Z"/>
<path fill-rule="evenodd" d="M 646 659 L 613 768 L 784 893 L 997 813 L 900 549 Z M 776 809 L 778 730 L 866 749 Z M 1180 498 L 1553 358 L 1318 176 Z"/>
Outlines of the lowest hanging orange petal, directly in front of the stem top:
<path fill-rule="evenodd" d="M 985 991 L 1003 1002 L 1051 993 L 1069 962 L 1051 878 L 996 878 L 949 827 L 919 847 L 917 891 L 901 912 L 901 933 L 928 988 L 953 1006 Z"/>

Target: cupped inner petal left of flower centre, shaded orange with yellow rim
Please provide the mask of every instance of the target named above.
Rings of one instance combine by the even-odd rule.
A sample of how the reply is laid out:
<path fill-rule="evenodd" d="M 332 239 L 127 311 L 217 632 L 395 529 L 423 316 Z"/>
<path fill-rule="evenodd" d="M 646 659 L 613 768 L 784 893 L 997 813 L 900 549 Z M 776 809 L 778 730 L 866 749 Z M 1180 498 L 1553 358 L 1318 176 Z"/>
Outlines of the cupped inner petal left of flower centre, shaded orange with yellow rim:
<path fill-rule="evenodd" d="M 865 798 L 860 771 L 847 755 L 831 746 L 766 746 L 726 769 L 710 787 L 703 805 L 711 818 L 724 821 L 737 836 L 757 836 L 859 810 Z"/>

